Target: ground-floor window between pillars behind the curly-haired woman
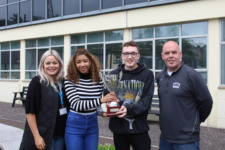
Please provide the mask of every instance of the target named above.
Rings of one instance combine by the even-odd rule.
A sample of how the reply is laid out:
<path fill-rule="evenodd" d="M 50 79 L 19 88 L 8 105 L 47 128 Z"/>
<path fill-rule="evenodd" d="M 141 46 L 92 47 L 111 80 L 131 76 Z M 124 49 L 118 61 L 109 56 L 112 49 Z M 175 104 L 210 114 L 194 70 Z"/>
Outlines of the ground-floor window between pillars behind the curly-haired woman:
<path fill-rule="evenodd" d="M 102 72 L 108 73 L 119 63 L 123 45 L 123 30 L 71 35 L 71 56 L 79 48 L 86 48 L 102 64 Z"/>

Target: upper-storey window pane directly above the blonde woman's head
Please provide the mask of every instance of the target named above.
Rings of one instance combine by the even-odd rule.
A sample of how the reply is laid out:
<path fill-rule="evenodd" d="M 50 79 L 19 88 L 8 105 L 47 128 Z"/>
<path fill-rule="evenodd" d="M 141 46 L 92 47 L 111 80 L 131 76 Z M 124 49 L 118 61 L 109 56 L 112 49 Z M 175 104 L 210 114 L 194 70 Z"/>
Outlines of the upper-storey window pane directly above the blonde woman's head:
<path fill-rule="evenodd" d="M 47 14 L 48 18 L 61 16 L 61 0 L 48 0 L 47 1 Z"/>

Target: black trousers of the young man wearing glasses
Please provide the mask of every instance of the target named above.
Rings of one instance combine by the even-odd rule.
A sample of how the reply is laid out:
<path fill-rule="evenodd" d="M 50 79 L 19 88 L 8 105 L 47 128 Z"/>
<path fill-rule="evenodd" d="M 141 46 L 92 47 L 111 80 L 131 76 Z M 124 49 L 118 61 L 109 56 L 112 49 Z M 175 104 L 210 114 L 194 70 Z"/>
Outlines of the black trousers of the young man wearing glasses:
<path fill-rule="evenodd" d="M 116 150 L 150 150 L 151 139 L 148 132 L 140 134 L 118 134 L 113 133 L 114 145 Z"/>

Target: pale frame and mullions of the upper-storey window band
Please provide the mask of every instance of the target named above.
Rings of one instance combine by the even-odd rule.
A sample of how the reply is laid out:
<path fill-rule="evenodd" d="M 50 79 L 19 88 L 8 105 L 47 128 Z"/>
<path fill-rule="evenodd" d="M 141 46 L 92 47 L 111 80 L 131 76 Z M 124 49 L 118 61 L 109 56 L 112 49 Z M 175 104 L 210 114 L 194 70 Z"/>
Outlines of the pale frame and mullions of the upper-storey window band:
<path fill-rule="evenodd" d="M 103 4 L 102 4 L 102 0 L 98 0 L 99 1 L 99 9 L 97 10 L 93 10 L 93 11 L 87 11 L 87 12 L 82 12 L 82 4 L 80 0 L 80 5 L 79 5 L 79 13 L 75 13 L 75 14 L 69 14 L 69 15 L 64 15 L 64 1 L 65 0 L 60 0 L 60 5 L 61 5 L 61 11 L 60 11 L 60 15 L 57 17 L 51 17 L 48 18 L 48 3 L 47 0 L 45 1 L 45 16 L 43 19 L 40 20 L 34 20 L 33 19 L 33 0 L 31 0 L 31 11 L 30 11 L 30 16 L 31 16 L 31 20 L 29 22 L 25 22 L 25 23 L 20 23 L 19 22 L 19 16 L 20 16 L 20 3 L 21 2 L 25 2 L 28 0 L 18 0 L 16 2 L 13 3 L 5 3 L 5 4 L 1 4 L 0 7 L 2 6 L 6 6 L 8 7 L 9 5 L 14 5 L 17 4 L 17 23 L 16 24 L 12 24 L 12 25 L 8 25 L 8 16 L 7 16 L 7 12 L 8 9 L 6 8 L 6 24 L 5 26 L 1 26 L 0 30 L 4 30 L 4 29 L 9 29 L 9 28 L 17 28 L 17 27 L 21 27 L 21 26 L 27 26 L 27 25 L 33 25 L 33 24 L 39 24 L 39 23 L 47 23 L 47 22 L 52 22 L 52 21 L 59 21 L 59 20 L 65 20 L 65 19 L 70 19 L 70 18 L 80 18 L 80 17 L 85 17 L 85 16 L 90 16 L 90 15 L 98 15 L 98 14 L 104 14 L 104 13 L 110 13 L 110 12 L 117 12 L 117 11 L 124 11 L 124 10 L 130 10 L 130 9 L 136 9 L 136 8 L 143 8 L 143 7 L 151 7 L 151 6 L 157 6 L 157 5 L 164 5 L 164 4 L 171 4 L 171 3 L 179 3 L 179 2 L 188 2 L 189 0 L 157 0 L 157 1 L 151 1 L 151 0 L 146 0 L 146 2 L 140 2 L 140 3 L 134 3 L 134 4 L 129 4 L 129 5 L 125 5 L 125 0 L 122 0 L 122 5 L 121 6 L 115 6 L 112 8 L 106 8 L 103 9 Z"/>

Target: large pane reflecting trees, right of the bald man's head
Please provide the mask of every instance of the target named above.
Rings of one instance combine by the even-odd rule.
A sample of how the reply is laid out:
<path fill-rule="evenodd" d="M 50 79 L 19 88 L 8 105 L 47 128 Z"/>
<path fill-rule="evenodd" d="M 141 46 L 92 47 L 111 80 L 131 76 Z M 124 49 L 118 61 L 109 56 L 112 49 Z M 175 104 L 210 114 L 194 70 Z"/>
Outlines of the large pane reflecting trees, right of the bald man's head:
<path fill-rule="evenodd" d="M 183 62 L 195 69 L 206 68 L 206 38 L 182 39 Z"/>

